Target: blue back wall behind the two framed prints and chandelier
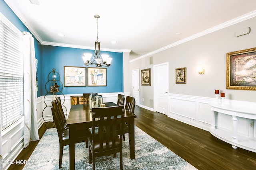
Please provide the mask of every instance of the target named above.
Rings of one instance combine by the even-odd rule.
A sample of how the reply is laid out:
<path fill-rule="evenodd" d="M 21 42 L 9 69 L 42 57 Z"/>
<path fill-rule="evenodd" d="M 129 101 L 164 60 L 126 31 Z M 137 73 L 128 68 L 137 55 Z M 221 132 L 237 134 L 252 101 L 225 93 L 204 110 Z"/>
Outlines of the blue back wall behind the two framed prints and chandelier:
<path fill-rule="evenodd" d="M 64 84 L 64 66 L 95 67 L 94 65 L 84 65 L 84 61 L 82 59 L 84 53 L 94 54 L 94 50 L 42 45 L 43 95 L 47 93 L 45 88 L 47 88 L 49 91 L 50 87 L 45 87 L 45 84 L 48 81 L 48 74 L 52 71 L 52 68 L 55 68 L 56 72 L 60 74 L 60 81 Z M 107 86 L 63 87 L 63 94 L 82 94 L 94 92 L 111 93 L 124 91 L 123 53 L 101 51 L 101 54 L 108 54 L 112 58 L 111 65 L 109 67 L 104 67 L 107 68 Z"/>

